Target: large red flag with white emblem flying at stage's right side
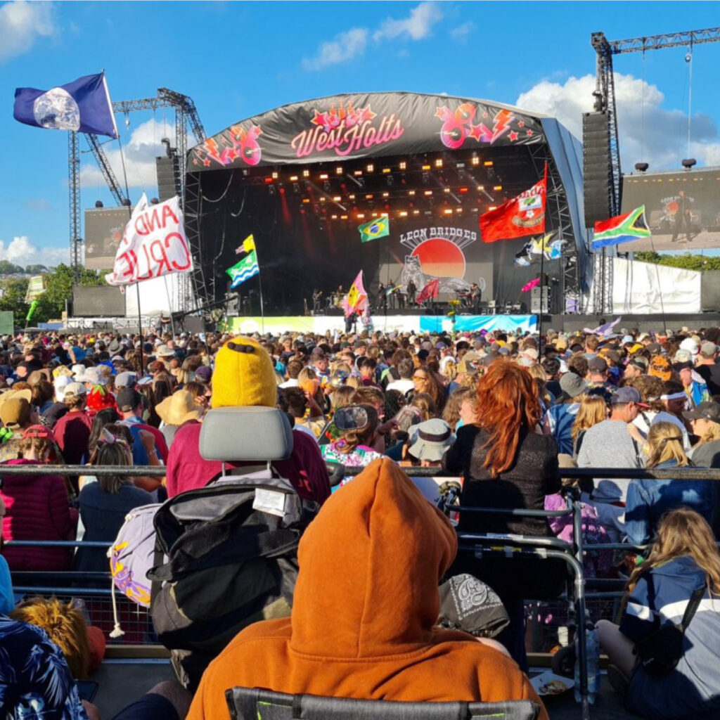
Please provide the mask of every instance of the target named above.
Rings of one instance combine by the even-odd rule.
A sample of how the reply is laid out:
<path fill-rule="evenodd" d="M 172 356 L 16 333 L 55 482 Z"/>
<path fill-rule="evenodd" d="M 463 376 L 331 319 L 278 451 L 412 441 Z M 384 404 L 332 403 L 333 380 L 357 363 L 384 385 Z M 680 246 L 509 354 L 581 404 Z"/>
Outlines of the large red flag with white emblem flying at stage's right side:
<path fill-rule="evenodd" d="M 547 166 L 539 183 L 495 210 L 488 210 L 480 215 L 480 240 L 483 243 L 495 243 L 496 240 L 511 240 L 544 233 L 546 196 Z"/>

